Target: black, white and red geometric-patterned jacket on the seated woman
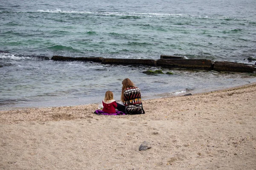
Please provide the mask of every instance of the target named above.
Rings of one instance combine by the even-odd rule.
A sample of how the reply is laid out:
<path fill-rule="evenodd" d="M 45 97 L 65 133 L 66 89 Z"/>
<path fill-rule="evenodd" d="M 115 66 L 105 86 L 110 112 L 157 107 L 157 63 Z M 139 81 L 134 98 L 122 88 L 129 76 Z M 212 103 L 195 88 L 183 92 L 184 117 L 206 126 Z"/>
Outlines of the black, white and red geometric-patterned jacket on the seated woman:
<path fill-rule="evenodd" d="M 144 114 L 141 102 L 140 89 L 137 87 L 125 88 L 124 105 L 127 114 Z"/>

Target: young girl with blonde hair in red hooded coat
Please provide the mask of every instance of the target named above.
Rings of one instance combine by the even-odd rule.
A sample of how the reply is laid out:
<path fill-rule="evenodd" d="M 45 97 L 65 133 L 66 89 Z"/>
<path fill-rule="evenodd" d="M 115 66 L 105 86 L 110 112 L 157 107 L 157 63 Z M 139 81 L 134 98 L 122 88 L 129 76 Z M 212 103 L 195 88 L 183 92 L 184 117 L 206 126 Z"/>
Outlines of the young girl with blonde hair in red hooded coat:
<path fill-rule="evenodd" d="M 114 95 L 112 91 L 106 91 L 105 99 L 102 100 L 103 109 L 102 111 L 106 113 L 116 113 L 116 100 L 114 100 Z"/>

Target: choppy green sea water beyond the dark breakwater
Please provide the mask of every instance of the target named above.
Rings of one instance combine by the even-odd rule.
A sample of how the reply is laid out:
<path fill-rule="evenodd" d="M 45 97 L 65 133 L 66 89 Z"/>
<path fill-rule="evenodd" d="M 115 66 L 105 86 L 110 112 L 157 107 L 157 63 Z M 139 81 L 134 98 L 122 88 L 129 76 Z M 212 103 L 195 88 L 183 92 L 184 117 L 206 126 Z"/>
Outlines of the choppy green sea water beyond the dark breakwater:
<path fill-rule="evenodd" d="M 255 56 L 256 2 L 2 2 L 0 49 L 14 54 L 241 61 Z"/>

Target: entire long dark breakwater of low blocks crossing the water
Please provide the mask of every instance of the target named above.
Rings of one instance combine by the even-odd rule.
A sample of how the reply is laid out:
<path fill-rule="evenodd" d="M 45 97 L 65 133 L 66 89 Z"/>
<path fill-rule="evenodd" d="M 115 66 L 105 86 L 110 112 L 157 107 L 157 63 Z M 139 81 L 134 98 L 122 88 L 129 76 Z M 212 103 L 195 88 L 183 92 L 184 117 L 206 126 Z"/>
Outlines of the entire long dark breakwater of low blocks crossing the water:
<path fill-rule="evenodd" d="M 40 56 L 39 56 L 40 57 Z M 43 57 L 43 56 L 42 56 Z M 163 58 L 163 56 L 162 56 Z M 252 65 L 239 64 L 235 62 L 212 62 L 208 59 L 113 59 L 113 58 L 102 58 L 102 57 L 63 57 L 53 56 L 51 58 L 55 61 L 89 61 L 99 62 L 102 64 L 116 64 L 116 65 L 149 65 L 149 66 L 160 66 L 166 68 L 187 68 L 187 69 L 204 69 L 216 71 L 229 71 L 229 72 L 253 72 L 256 71 L 256 67 Z M 163 74 L 152 73 L 146 71 L 145 74 Z M 167 72 L 166 74 L 171 74 Z"/>

